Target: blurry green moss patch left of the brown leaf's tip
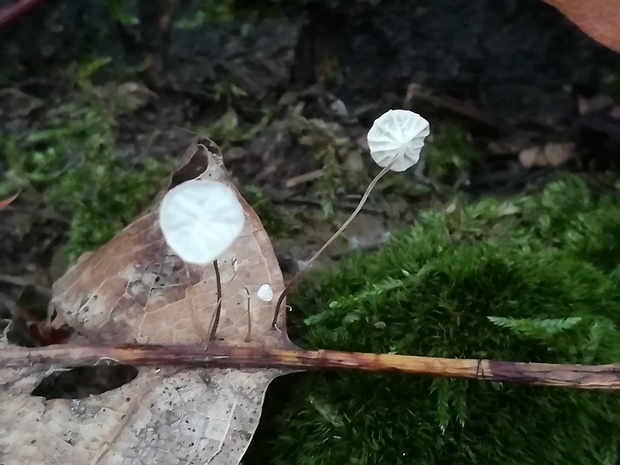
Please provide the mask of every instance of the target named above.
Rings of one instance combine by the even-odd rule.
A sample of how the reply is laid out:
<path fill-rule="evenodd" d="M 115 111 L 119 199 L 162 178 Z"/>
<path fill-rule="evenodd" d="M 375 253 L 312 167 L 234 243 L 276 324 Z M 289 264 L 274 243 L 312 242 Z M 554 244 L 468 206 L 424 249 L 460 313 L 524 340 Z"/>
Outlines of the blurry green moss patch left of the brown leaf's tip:
<path fill-rule="evenodd" d="M 48 111 L 38 130 L 0 139 L 8 165 L 0 197 L 21 190 L 22 197 L 40 207 L 36 222 L 66 224 L 70 261 L 131 221 L 172 167 L 171 160 L 123 156 L 116 117 L 125 101 L 90 81 L 106 63 L 74 67 L 69 101 Z"/>

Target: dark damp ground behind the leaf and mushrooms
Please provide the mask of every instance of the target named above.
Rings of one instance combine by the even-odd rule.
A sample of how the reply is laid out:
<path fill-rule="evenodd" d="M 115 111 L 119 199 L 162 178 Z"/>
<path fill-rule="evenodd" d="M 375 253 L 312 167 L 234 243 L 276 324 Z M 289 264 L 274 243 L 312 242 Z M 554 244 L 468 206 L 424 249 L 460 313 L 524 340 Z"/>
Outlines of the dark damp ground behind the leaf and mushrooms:
<path fill-rule="evenodd" d="M 389 108 L 430 120 L 425 163 L 386 177 L 324 263 L 379 246 L 420 209 L 449 208 L 456 195 L 518 195 L 560 170 L 615 169 L 620 60 L 537 0 L 384 0 L 329 11 L 319 2 L 283 11 L 189 1 L 168 33 L 155 3 L 119 12 L 46 1 L 0 29 L 0 186 L 50 121 L 56 135 L 39 137 L 37 150 L 66 142 L 59 127 L 88 140 L 113 128 L 102 144 L 128 176 L 136 160 L 178 156 L 204 133 L 222 147 L 290 277 L 376 173 L 365 135 Z M 103 57 L 110 63 L 90 73 Z M 91 107 L 100 126 L 73 130 Z M 73 240 L 71 221 L 46 193 L 83 156 L 62 153 L 57 177 L 29 177 L 0 213 L 3 317 L 27 285 L 43 290 L 66 266 L 59 251 Z"/>

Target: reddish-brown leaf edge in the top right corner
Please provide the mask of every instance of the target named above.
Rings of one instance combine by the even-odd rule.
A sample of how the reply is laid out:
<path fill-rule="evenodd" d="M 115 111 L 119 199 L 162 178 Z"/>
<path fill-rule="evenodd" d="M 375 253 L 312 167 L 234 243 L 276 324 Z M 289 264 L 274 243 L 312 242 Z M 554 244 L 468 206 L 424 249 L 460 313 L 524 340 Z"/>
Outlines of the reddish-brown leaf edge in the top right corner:
<path fill-rule="evenodd" d="M 604 46 L 620 52 L 620 3 L 618 0 L 544 0 L 579 29 Z"/>

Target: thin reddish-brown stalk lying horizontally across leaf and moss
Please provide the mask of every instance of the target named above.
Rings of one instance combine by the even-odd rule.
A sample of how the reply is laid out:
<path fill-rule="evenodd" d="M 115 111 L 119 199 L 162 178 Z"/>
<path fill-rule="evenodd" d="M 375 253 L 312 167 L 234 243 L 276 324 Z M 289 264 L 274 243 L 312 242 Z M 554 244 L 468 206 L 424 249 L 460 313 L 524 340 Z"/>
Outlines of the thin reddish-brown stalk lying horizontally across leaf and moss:
<path fill-rule="evenodd" d="M 478 379 L 577 389 L 620 389 L 620 363 L 561 365 L 501 362 L 407 355 L 381 355 L 331 350 L 305 351 L 200 345 L 55 345 L 35 349 L 0 350 L 0 368 L 35 364 L 71 367 L 94 365 L 104 359 L 150 366 L 348 369 L 391 371 L 416 375 Z M 1 380 L 0 380 L 1 383 Z"/>

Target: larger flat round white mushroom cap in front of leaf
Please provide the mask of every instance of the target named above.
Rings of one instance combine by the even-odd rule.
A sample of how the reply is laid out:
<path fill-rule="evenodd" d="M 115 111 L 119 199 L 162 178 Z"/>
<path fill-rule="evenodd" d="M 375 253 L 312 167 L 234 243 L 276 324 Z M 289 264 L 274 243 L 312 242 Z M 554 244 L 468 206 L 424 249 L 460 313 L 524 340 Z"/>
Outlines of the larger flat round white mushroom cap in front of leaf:
<path fill-rule="evenodd" d="M 186 181 L 170 189 L 159 207 L 164 239 L 181 260 L 204 265 L 237 239 L 245 213 L 237 195 L 222 183 Z"/>

